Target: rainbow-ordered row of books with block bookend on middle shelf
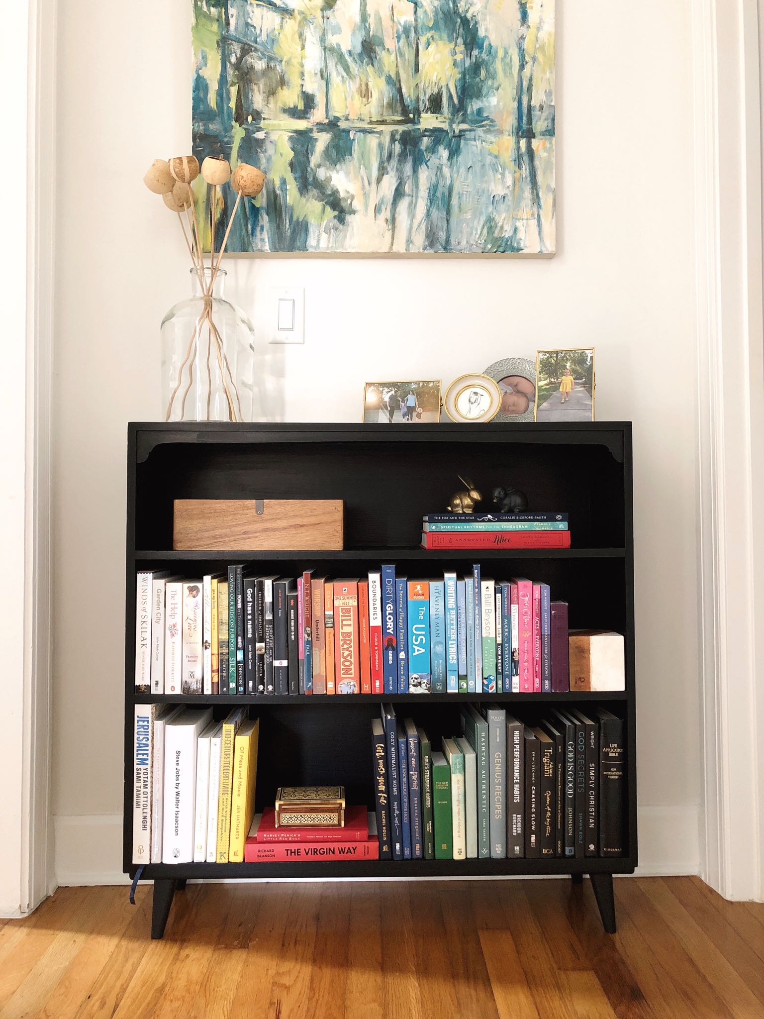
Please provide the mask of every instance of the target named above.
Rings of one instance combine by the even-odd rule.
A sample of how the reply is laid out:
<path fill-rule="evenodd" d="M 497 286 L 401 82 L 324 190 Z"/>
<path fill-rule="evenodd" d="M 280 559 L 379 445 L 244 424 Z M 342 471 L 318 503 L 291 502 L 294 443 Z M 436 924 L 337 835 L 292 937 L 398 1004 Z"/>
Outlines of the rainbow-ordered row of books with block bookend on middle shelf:
<path fill-rule="evenodd" d="M 570 655 L 575 668 L 571 671 Z M 331 580 L 137 578 L 135 689 L 154 694 L 534 693 L 624 689 L 623 638 L 568 634 L 548 584 L 410 580 L 395 566 Z"/>

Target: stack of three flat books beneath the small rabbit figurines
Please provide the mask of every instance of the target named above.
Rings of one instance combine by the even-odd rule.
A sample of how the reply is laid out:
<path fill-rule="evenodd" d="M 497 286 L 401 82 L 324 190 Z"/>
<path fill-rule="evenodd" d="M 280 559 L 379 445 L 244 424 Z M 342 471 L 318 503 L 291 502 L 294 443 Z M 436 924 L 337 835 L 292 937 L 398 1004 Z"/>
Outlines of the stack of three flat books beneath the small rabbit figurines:
<path fill-rule="evenodd" d="M 422 521 L 423 548 L 569 548 L 566 513 L 435 513 Z"/>

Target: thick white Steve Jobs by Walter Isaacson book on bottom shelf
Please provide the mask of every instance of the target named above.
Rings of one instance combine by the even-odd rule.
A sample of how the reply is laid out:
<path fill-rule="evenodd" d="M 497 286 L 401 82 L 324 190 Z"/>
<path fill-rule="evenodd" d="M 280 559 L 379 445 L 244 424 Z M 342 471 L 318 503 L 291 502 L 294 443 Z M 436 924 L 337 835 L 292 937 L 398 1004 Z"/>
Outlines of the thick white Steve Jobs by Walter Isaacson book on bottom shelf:
<path fill-rule="evenodd" d="M 194 861 L 197 742 L 212 708 L 185 708 L 165 726 L 162 863 Z"/>

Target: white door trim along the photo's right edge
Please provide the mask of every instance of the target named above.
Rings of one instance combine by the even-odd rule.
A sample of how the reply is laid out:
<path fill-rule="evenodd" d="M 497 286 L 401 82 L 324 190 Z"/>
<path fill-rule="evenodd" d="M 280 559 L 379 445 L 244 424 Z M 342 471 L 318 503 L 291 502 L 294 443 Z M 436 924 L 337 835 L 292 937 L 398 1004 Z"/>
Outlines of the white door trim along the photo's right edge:
<path fill-rule="evenodd" d="M 757 0 L 694 0 L 701 875 L 762 897 L 764 369 Z M 757 597 L 758 595 L 758 597 Z"/>

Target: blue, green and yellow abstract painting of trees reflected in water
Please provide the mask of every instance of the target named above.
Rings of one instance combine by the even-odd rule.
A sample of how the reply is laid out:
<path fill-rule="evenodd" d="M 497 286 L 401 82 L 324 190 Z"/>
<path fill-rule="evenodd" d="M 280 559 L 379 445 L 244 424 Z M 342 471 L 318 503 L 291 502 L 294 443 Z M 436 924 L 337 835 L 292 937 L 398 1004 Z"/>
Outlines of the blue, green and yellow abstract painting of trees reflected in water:
<path fill-rule="evenodd" d="M 268 178 L 230 252 L 554 252 L 554 0 L 193 3 L 195 155 Z"/>

